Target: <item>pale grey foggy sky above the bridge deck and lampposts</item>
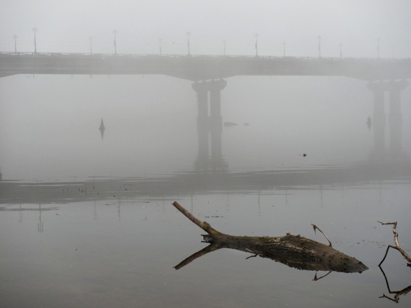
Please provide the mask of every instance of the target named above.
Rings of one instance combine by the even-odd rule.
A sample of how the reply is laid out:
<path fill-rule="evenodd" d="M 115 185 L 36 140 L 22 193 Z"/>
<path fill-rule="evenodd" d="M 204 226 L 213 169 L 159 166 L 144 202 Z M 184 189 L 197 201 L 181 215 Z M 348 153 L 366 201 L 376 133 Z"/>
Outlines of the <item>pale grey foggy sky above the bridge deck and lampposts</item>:
<path fill-rule="evenodd" d="M 316 56 L 321 35 L 323 56 L 376 57 L 411 55 L 411 2 L 408 0 L 292 1 L 97 1 L 3 0 L 0 50 L 33 51 L 37 27 L 39 52 L 187 52 L 253 55 L 255 33 L 260 55 Z"/>

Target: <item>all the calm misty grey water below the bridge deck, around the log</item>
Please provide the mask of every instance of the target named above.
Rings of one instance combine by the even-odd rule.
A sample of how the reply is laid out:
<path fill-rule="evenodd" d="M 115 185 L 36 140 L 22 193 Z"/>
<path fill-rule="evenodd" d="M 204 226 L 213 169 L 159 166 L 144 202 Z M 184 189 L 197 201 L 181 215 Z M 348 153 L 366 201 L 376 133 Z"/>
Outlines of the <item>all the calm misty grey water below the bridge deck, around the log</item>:
<path fill-rule="evenodd" d="M 2 306 L 393 305 L 379 298 L 395 294 L 377 266 L 393 234 L 377 220 L 398 221 L 410 253 L 409 89 L 404 155 L 378 161 L 364 82 L 228 79 L 223 121 L 239 125 L 223 127 L 225 171 L 203 172 L 190 86 L 160 76 L 0 80 Z M 326 243 L 315 223 L 369 269 L 314 281 L 327 273 L 220 249 L 176 271 L 207 244 L 173 201 L 232 235 Z M 382 268 L 391 292 L 411 284 L 397 251 Z"/>

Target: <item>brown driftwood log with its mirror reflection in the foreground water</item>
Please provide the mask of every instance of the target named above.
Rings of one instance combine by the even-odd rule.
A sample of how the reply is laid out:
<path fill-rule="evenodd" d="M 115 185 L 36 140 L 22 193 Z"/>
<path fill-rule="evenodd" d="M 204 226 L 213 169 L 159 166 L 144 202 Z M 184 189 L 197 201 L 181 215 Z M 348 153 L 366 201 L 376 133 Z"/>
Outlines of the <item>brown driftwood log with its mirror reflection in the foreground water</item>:
<path fill-rule="evenodd" d="M 176 265 L 174 267 L 176 269 L 220 248 L 236 249 L 253 254 L 251 257 L 269 258 L 290 267 L 309 271 L 361 273 L 368 269 L 367 266 L 356 258 L 347 256 L 332 248 L 331 242 L 330 245 L 325 245 L 300 235 L 290 234 L 280 237 L 249 237 L 223 234 L 211 227 L 207 222 L 194 217 L 178 202 L 174 202 L 173 205 L 185 217 L 207 232 L 206 235 L 203 235 L 203 239 L 204 242 L 210 243 L 206 248 L 201 249 Z M 315 225 L 313 226 L 314 230 L 318 229 Z"/>

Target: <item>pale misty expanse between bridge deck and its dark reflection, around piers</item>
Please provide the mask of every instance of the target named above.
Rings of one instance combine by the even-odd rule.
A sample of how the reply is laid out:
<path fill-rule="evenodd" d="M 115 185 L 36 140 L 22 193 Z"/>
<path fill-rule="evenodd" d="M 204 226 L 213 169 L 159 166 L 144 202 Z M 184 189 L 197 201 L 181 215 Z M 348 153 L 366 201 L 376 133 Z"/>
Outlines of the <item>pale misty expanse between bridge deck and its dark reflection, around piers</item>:
<path fill-rule="evenodd" d="M 222 154 L 230 167 L 369 159 L 373 133 L 366 119 L 372 115 L 372 92 L 366 82 L 290 76 L 227 81 L 222 119 L 239 124 L 222 131 Z M 198 137 L 191 83 L 168 76 L 3 78 L 4 178 L 141 176 L 192 168 Z M 409 151 L 408 89 L 402 98 L 403 149 Z M 302 153 L 308 156 L 303 159 Z"/>

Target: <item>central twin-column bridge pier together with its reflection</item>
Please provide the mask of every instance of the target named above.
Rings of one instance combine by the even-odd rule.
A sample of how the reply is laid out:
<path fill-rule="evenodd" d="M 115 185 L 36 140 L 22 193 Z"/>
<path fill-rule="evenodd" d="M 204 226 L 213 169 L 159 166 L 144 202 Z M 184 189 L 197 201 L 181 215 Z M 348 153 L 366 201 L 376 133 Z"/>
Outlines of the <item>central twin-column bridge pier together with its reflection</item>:
<path fill-rule="evenodd" d="M 225 80 L 202 81 L 192 84 L 197 92 L 197 132 L 198 132 L 198 161 L 197 168 L 204 170 L 210 167 L 213 170 L 226 169 L 227 163 L 222 159 L 222 117 L 221 117 L 221 90 L 227 85 Z M 210 105 L 208 97 L 210 92 Z M 209 107 L 210 106 L 210 107 Z M 209 138 L 210 137 L 210 138 Z M 210 155 L 210 147 L 211 155 Z"/>

